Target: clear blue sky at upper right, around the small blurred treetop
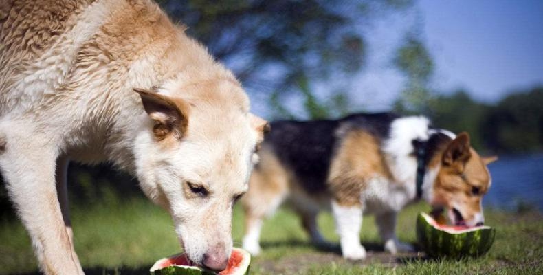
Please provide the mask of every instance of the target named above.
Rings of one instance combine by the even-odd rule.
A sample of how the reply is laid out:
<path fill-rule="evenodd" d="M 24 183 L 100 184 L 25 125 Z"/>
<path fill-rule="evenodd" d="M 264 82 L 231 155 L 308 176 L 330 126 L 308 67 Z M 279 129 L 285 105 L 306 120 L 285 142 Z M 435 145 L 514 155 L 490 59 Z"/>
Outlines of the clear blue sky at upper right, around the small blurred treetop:
<path fill-rule="evenodd" d="M 476 100 L 493 103 L 543 85 L 543 1 L 419 0 L 366 30 L 368 61 L 350 88 L 355 109 L 392 107 L 404 78 L 391 56 L 410 31 L 434 58 L 434 91 L 465 89 Z"/>

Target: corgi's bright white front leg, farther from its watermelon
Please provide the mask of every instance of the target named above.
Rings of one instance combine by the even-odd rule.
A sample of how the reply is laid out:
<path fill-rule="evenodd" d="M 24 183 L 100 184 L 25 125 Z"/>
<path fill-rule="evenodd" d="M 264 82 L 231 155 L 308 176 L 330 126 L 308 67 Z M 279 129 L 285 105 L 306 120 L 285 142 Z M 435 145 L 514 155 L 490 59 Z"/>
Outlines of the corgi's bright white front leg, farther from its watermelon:
<path fill-rule="evenodd" d="M 343 257 L 350 260 L 366 258 L 366 249 L 360 244 L 362 228 L 362 206 L 340 206 L 332 201 L 335 229 L 340 235 Z"/>

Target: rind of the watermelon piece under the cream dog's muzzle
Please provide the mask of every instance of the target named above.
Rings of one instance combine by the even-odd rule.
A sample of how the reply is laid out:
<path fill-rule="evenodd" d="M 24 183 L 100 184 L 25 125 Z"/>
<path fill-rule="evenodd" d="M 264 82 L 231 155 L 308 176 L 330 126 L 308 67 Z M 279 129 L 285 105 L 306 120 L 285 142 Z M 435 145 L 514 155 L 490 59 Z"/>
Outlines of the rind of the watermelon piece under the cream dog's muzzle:
<path fill-rule="evenodd" d="M 251 254 L 241 248 L 233 248 L 233 252 L 236 251 L 242 254 L 242 261 L 239 265 L 236 266 L 236 270 L 228 273 L 228 275 L 248 275 L 251 264 Z M 171 257 L 179 256 L 173 255 L 167 258 L 159 259 L 151 267 L 149 272 L 151 275 L 214 275 L 215 272 L 210 272 L 208 270 L 203 270 L 200 267 L 190 266 L 190 265 L 169 265 L 167 267 L 159 268 L 160 263 L 167 261 Z"/>

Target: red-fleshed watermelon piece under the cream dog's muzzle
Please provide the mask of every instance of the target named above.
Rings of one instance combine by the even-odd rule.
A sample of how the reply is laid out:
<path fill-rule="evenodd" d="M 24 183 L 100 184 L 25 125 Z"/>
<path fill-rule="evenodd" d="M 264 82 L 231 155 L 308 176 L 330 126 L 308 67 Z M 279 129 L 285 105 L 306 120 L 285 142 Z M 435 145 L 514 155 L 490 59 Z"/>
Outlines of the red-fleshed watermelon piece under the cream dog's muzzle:
<path fill-rule="evenodd" d="M 249 274 L 251 254 L 241 248 L 233 248 L 228 266 L 219 275 Z M 191 265 L 185 254 L 177 254 L 158 260 L 152 267 L 151 275 L 211 275 L 216 274 L 200 267 Z"/>

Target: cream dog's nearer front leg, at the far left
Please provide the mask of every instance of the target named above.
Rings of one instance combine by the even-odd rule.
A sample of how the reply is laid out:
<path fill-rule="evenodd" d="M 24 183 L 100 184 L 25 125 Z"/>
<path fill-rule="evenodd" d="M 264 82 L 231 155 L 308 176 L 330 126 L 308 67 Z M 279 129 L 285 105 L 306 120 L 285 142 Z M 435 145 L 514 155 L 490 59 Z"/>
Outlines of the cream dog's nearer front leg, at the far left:
<path fill-rule="evenodd" d="M 45 274 L 83 274 L 55 184 L 56 148 L 37 133 L 8 133 L 0 167 Z"/>

